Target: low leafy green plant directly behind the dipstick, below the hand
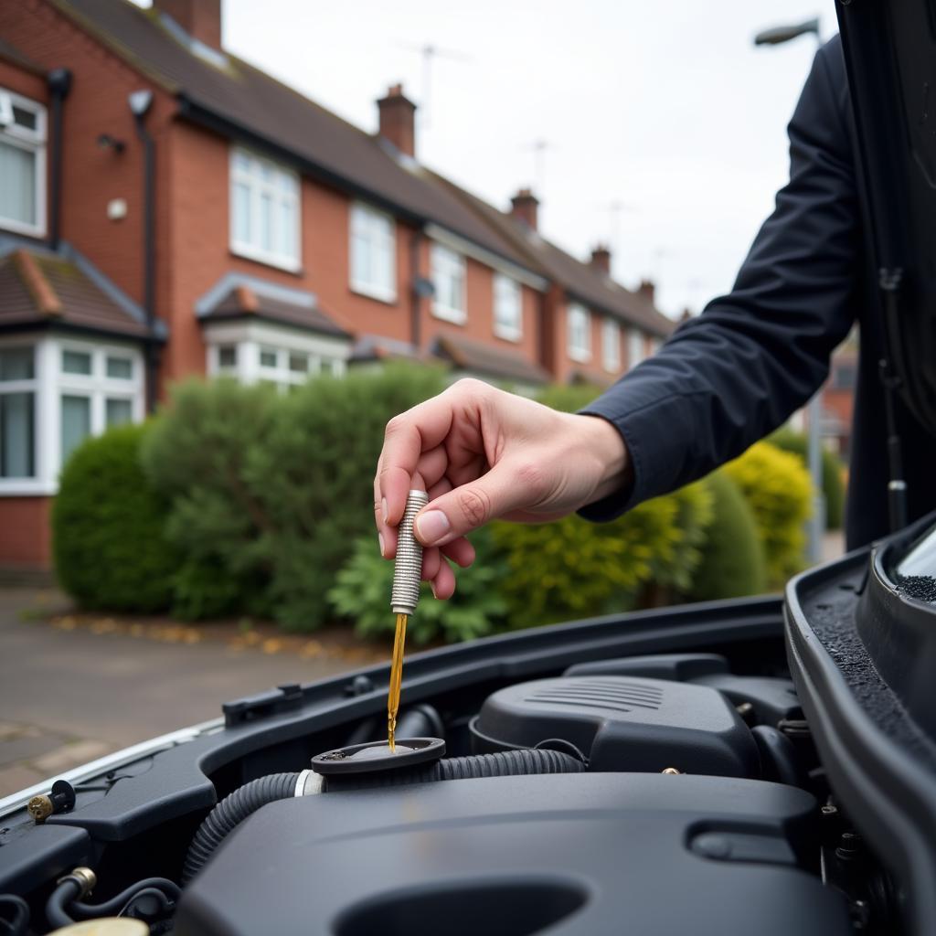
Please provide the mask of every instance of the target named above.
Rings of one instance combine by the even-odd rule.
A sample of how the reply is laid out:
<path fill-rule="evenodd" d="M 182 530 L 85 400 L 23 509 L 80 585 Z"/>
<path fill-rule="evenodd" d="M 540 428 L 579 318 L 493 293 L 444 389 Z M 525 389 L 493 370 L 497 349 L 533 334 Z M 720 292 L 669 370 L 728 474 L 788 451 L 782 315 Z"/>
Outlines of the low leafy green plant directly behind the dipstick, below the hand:
<path fill-rule="evenodd" d="M 448 601 L 436 601 L 423 583 L 417 613 L 407 625 L 407 639 L 417 644 L 440 636 L 449 642 L 470 640 L 503 626 L 506 602 L 497 586 L 505 577 L 505 565 L 494 554 L 489 530 L 479 530 L 471 539 L 477 561 L 458 571 L 458 587 Z M 392 582 L 393 563 L 381 558 L 375 537 L 362 536 L 329 589 L 329 602 L 337 614 L 355 623 L 360 636 L 392 635 L 396 623 L 389 608 Z"/>

